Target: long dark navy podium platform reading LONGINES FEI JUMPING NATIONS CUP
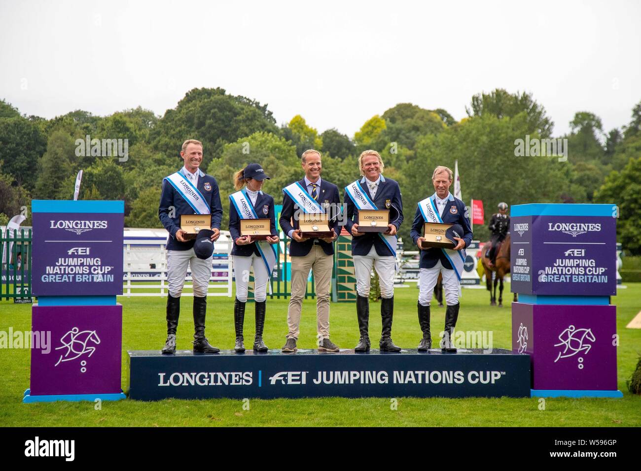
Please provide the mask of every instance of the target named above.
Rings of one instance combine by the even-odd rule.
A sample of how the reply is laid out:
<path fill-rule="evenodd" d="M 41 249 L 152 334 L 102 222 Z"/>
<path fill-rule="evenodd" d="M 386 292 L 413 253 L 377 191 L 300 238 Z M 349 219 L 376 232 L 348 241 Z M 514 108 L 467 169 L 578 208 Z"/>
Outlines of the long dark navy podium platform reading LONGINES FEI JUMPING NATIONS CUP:
<path fill-rule="evenodd" d="M 128 352 L 129 399 L 530 397 L 530 357 L 494 349 L 444 353 L 251 350 Z"/>

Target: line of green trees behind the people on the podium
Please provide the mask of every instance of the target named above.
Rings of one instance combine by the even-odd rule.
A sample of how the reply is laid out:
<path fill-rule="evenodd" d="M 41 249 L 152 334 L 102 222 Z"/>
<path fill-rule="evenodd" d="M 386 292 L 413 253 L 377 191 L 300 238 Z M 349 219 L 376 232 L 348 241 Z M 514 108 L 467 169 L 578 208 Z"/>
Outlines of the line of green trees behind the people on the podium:
<path fill-rule="evenodd" d="M 385 176 L 401 186 L 408 240 L 418 201 L 433 194 L 431 172 L 437 165 L 458 169 L 463 199 L 480 199 L 486 223 L 500 201 L 606 202 L 619 206 L 617 225 L 624 249 L 641 253 L 641 102 L 622 128 L 606 131 L 601 119 L 577 112 L 570 133 L 554 136 L 554 123 L 526 92 L 497 88 L 474 95 L 467 117 L 400 103 L 365 120 L 350 137 L 337 129 L 319 131 L 301 115 L 278 125 L 267 104 L 222 88 L 190 90 L 161 117 L 132 108 L 106 117 L 76 110 L 53 119 L 21 115 L 0 100 L 0 224 L 29 206 L 31 199 L 71 199 L 78 170 L 83 170 L 79 199 L 124 199 L 126 225 L 162 227 L 158 202 L 162 179 L 182 165 L 182 142 L 203 142 L 201 168 L 221 188 L 224 224 L 233 173 L 260 163 L 271 180 L 264 190 L 281 200 L 281 188 L 302 176 L 300 155 L 322 153 L 323 177 L 339 188 L 359 176 L 358 155 L 375 149 Z M 76 140 L 127 139 L 128 156 L 79 153 Z M 560 138 L 565 156 L 515 152 L 517 140 Z M 30 224 L 30 218 L 25 224 Z M 486 240 L 487 227 L 475 226 Z"/>

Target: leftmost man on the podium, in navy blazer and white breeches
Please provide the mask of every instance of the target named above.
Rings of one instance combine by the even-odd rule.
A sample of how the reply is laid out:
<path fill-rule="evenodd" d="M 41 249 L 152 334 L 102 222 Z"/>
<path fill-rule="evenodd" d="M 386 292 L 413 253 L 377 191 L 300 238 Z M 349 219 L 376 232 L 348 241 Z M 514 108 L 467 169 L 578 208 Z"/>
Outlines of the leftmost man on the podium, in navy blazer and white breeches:
<path fill-rule="evenodd" d="M 158 217 L 162 222 L 169 238 L 167 239 L 167 342 L 163 347 L 164 354 L 176 352 L 176 328 L 180 313 L 180 295 L 187 277 L 187 267 L 192 270 L 194 285 L 194 352 L 215 353 L 219 349 L 212 347 L 204 336 L 204 321 L 207 310 L 207 290 L 212 276 L 212 258 L 201 260 L 194 252 L 195 240 L 187 240 L 187 233 L 180 228 L 180 215 L 203 214 L 210 219 L 203 229 L 211 227 L 212 242 L 221 235 L 222 204 L 216 179 L 199 169 L 203 161 L 203 144 L 195 139 L 183 143 L 180 153 L 185 165 L 177 174 L 163 180 L 162 195 Z M 171 178 L 183 181 L 185 193 L 174 186 Z M 194 190 L 196 188 L 196 190 Z M 194 195 L 189 199 L 189 195 Z M 194 208 L 198 209 L 197 212 Z M 209 213 L 206 213 L 209 211 Z"/>

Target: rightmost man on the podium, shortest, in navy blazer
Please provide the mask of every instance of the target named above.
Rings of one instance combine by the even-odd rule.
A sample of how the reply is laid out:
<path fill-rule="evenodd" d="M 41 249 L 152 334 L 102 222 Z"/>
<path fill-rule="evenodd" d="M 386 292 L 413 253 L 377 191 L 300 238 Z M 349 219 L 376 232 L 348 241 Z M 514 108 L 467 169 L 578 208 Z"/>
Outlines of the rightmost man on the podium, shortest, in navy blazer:
<path fill-rule="evenodd" d="M 453 174 L 452 170 L 447 167 L 438 166 L 432 174 L 432 183 L 434 185 L 435 193 L 431 195 L 430 200 L 432 207 L 438 211 L 438 215 L 444 224 L 460 224 L 463 228 L 462 237 L 454 237 L 456 240 L 456 247 L 454 250 L 465 249 L 472 242 L 472 227 L 470 220 L 467 217 L 467 210 L 465 203 L 458 198 L 455 198 L 450 192 L 449 187 L 452 185 Z M 420 204 L 420 202 L 419 202 Z M 423 227 L 425 219 L 420 211 L 416 209 L 414 215 L 414 222 L 410 236 L 414 244 L 420 248 L 423 240 Z M 443 276 L 443 288 L 445 291 L 445 300 L 447 307 L 445 308 L 445 330 L 441 347 L 444 351 L 455 352 L 456 349 L 451 343 L 451 334 L 456 326 L 458 319 L 458 310 L 460 304 L 458 302 L 458 292 L 460 285 L 460 273 L 456 272 L 456 267 L 452 266 L 453 261 L 446 256 L 443 249 L 431 247 L 429 249 L 420 250 L 419 262 L 419 325 L 423 333 L 423 338 L 419 343 L 419 351 L 427 351 L 431 349 L 432 341 L 429 331 L 429 305 L 432 299 L 434 286 L 437 284 L 438 274 Z"/>

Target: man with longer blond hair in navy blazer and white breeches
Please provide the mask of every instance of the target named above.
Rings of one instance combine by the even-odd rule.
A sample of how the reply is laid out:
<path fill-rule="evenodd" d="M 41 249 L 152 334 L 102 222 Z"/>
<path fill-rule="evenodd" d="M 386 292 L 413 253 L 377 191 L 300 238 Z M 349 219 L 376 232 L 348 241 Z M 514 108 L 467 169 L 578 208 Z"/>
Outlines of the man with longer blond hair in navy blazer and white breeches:
<path fill-rule="evenodd" d="M 394 315 L 394 275 L 396 273 L 396 239 L 399 226 L 403 222 L 403 201 L 399 184 L 390 178 L 383 177 L 385 163 L 376 151 L 364 151 L 358 158 L 362 178 L 358 185 L 367 194 L 369 201 L 379 210 L 389 210 L 389 223 L 386 237 L 381 233 L 358 231 L 358 208 L 354 204 L 348 189 L 345 189 L 345 207 L 347 219 L 345 228 L 352 238 L 352 257 L 356 274 L 356 317 L 360 340 L 354 348 L 357 352 L 369 350 L 369 288 L 372 265 L 378 273 L 381 286 L 381 351 L 398 352 L 392 342 L 392 317 Z M 351 185 L 356 185 L 354 182 Z M 350 185 L 350 186 L 351 186 Z M 348 186 L 348 188 L 350 187 Z M 360 192 L 359 188 L 359 192 Z"/>

